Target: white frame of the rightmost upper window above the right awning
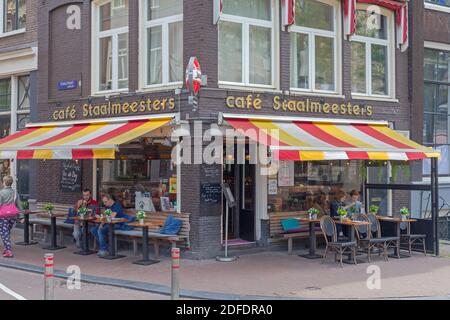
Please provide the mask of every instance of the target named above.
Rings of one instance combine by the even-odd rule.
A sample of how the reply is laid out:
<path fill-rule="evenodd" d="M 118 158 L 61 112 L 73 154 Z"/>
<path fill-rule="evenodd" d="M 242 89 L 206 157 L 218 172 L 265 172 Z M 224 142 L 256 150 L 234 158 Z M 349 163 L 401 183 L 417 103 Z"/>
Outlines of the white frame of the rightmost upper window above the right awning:
<path fill-rule="evenodd" d="M 367 10 L 369 5 L 367 4 L 358 4 L 357 10 Z M 383 7 L 379 7 L 380 14 L 386 17 L 386 35 L 387 39 L 376 39 L 371 37 L 359 36 L 357 34 L 351 37 L 351 42 L 360 42 L 365 44 L 365 52 L 366 52 L 366 92 L 353 92 L 352 98 L 380 98 L 380 99 L 394 99 L 395 97 L 395 21 L 394 21 L 394 12 L 392 10 L 388 10 Z M 386 79 L 388 81 L 387 89 L 388 93 L 385 95 L 373 94 L 372 93 L 372 45 L 382 45 L 387 47 L 387 76 Z"/>

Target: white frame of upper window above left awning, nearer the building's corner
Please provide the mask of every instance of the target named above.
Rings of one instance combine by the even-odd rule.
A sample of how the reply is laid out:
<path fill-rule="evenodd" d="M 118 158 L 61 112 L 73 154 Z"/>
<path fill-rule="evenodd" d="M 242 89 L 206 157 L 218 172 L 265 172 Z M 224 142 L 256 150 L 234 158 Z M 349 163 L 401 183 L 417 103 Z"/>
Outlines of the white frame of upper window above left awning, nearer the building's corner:
<path fill-rule="evenodd" d="M 148 20 L 148 1 L 141 0 L 139 1 L 139 11 L 140 19 L 143 21 L 140 27 L 140 65 L 144 66 L 144 72 L 140 73 L 139 87 L 141 90 L 151 90 L 158 89 L 161 87 L 170 87 L 170 88 L 181 88 L 183 87 L 183 81 L 173 81 L 170 82 L 170 57 L 169 57 L 169 25 L 175 22 L 183 23 L 183 13 L 177 14 L 169 17 Z M 161 36 L 162 36 L 162 82 L 157 84 L 148 84 L 148 73 L 149 73 L 149 65 L 148 65 L 148 36 L 147 32 L 150 28 L 161 27 Z M 184 28 L 184 26 L 183 26 Z M 184 45 L 184 44 L 183 44 Z M 182 75 L 182 78 L 184 76 Z"/>

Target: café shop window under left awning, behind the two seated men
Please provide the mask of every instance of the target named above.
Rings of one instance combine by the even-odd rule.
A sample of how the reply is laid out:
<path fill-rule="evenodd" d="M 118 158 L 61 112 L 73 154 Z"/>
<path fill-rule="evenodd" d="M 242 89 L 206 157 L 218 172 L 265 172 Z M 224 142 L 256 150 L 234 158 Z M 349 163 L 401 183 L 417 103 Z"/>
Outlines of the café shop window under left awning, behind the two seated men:
<path fill-rule="evenodd" d="M 100 193 L 111 194 L 124 208 L 177 210 L 177 167 L 167 138 L 140 138 L 122 145 L 118 160 L 102 160 Z"/>

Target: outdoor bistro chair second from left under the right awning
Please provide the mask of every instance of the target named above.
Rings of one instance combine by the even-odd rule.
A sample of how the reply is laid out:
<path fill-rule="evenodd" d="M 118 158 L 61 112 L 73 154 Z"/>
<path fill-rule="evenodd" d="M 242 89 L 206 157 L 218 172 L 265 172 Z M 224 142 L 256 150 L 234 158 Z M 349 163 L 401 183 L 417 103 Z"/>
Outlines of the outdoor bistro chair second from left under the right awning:
<path fill-rule="evenodd" d="M 353 220 L 369 222 L 372 224 L 372 222 L 369 221 L 369 218 L 364 214 L 354 215 Z M 384 261 L 388 261 L 388 244 L 393 241 L 393 239 L 391 237 L 374 237 L 370 228 L 371 224 L 355 227 L 358 244 L 362 249 L 367 249 L 367 260 L 369 263 L 371 262 L 371 254 L 375 248 L 378 249 L 378 255 L 383 253 Z"/>

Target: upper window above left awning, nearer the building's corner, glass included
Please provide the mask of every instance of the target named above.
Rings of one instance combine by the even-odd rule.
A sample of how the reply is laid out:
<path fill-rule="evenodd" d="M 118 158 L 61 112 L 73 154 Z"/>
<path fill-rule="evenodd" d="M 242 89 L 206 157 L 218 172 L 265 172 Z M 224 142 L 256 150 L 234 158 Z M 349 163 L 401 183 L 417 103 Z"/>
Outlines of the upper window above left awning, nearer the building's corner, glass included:
<path fill-rule="evenodd" d="M 183 81 L 183 1 L 145 1 L 145 86 Z"/>

